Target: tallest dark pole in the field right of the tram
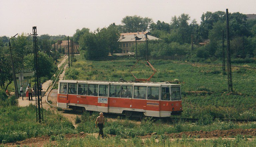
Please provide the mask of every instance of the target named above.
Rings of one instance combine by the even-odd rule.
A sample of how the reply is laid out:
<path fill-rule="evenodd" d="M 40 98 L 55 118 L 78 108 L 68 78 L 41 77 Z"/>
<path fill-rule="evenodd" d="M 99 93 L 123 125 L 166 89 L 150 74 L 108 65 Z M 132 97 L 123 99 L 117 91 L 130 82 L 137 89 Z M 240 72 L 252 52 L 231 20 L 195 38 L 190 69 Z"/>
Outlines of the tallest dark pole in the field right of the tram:
<path fill-rule="evenodd" d="M 228 71 L 228 91 L 233 92 L 232 83 L 232 70 L 231 70 L 231 54 L 230 54 L 230 43 L 229 43 L 229 20 L 228 20 L 228 9 L 226 9 L 226 27 L 227 27 L 227 71 Z"/>

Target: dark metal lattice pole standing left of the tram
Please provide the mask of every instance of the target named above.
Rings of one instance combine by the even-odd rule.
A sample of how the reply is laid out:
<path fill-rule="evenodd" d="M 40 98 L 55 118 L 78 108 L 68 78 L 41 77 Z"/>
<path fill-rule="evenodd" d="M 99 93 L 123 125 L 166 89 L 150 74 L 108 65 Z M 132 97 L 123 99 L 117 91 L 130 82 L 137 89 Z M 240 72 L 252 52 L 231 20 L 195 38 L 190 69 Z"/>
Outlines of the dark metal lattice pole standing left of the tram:
<path fill-rule="evenodd" d="M 39 76 L 39 55 L 37 46 L 37 30 L 36 26 L 33 27 L 33 48 L 34 48 L 34 70 L 35 70 L 35 96 L 36 96 L 36 122 L 39 123 L 44 120 L 43 117 L 43 105 L 42 105 L 42 91 L 41 91 L 41 81 Z"/>

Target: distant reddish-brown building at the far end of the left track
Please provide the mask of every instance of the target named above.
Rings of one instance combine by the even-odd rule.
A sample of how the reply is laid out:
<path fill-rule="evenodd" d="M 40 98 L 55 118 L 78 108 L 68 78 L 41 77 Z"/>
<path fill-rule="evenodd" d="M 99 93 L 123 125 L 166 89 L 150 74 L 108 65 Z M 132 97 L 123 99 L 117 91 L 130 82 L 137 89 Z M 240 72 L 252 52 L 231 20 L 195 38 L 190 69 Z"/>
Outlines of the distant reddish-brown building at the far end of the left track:
<path fill-rule="evenodd" d="M 54 48 L 54 44 L 52 45 L 52 48 Z M 58 42 L 55 43 L 56 51 L 58 50 L 65 50 L 65 54 L 68 54 L 68 41 L 67 40 L 58 40 Z M 79 54 L 78 51 L 79 45 L 74 42 L 74 54 Z M 69 53 L 71 53 L 71 44 L 69 41 Z"/>

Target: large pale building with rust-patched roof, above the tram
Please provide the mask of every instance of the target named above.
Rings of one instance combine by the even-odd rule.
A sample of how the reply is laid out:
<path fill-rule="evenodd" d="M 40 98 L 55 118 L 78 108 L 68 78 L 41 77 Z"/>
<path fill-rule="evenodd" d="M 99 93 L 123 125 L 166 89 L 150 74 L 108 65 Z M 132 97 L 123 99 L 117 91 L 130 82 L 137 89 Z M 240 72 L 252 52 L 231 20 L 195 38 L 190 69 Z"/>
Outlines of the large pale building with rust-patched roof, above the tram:
<path fill-rule="evenodd" d="M 137 45 L 146 42 L 146 33 L 148 33 L 148 40 L 158 40 L 159 38 L 149 35 L 149 32 L 142 31 L 136 33 L 121 33 L 119 42 L 122 53 L 130 53 L 133 51 L 132 47 L 135 46 L 135 37 L 137 37 Z"/>

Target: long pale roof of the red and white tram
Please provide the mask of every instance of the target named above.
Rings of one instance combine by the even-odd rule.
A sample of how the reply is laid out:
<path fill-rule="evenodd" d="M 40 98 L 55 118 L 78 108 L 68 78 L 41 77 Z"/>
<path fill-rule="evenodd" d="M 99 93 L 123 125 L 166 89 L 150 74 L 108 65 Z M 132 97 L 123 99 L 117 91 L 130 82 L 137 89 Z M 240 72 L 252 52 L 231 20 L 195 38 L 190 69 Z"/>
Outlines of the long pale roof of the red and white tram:
<path fill-rule="evenodd" d="M 89 84 L 117 84 L 117 85 L 151 85 L 151 86 L 160 86 L 160 85 L 179 85 L 179 84 L 170 84 L 169 82 L 113 82 L 113 81 L 97 81 L 97 80 L 60 80 L 59 82 L 64 83 L 89 83 Z"/>

